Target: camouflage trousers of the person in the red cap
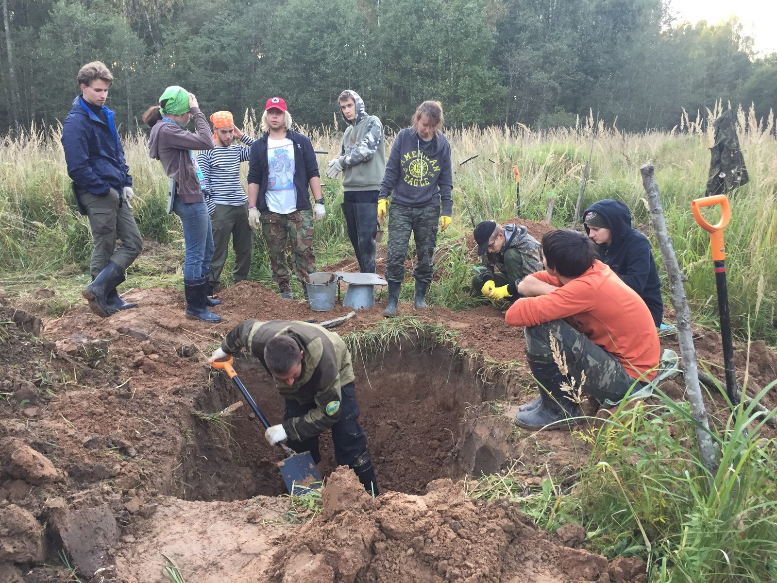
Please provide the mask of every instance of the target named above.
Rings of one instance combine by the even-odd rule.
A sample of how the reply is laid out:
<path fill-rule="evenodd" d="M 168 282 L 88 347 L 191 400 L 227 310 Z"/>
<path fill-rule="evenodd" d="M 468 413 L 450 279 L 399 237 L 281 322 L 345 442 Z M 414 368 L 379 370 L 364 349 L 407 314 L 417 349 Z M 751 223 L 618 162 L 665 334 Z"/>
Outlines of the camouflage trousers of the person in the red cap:
<path fill-rule="evenodd" d="M 300 283 L 308 274 L 315 273 L 315 255 L 313 254 L 313 211 L 295 211 L 288 215 L 276 212 L 263 212 L 260 218 L 262 234 L 267 242 L 267 254 L 273 270 L 273 281 L 281 291 L 288 288 L 291 281 L 286 262 L 286 250 L 291 243 L 294 253 L 295 273 Z"/>

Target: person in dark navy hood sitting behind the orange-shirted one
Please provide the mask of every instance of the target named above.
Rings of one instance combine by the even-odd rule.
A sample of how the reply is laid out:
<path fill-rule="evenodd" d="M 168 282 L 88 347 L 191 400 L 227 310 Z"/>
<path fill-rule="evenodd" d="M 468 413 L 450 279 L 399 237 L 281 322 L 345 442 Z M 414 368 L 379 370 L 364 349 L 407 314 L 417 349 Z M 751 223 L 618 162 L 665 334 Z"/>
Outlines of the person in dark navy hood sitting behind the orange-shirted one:
<path fill-rule="evenodd" d="M 664 302 L 650 241 L 631 225 L 631 211 L 621 201 L 605 198 L 584 214 L 588 236 L 598 245 L 599 258 L 639 294 L 650 309 L 656 327 L 661 325 Z"/>

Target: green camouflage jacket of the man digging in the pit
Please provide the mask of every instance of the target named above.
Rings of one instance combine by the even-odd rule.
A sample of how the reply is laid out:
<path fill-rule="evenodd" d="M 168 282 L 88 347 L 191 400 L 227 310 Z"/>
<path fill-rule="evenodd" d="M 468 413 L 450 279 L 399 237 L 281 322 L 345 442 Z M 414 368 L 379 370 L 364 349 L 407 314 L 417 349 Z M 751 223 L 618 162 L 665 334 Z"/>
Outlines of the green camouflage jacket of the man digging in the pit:
<path fill-rule="evenodd" d="M 350 351 L 336 333 L 316 324 L 291 320 L 246 319 L 227 334 L 221 350 L 235 354 L 246 348 L 270 372 L 264 361 L 264 347 L 270 338 L 280 334 L 292 337 L 299 344 L 303 352 L 302 374 L 291 386 L 273 377 L 275 388 L 284 399 L 315 403 L 315 408 L 304 416 L 283 422 L 286 435 L 301 441 L 321 434 L 340 421 L 340 388 L 354 381 L 354 367 Z"/>

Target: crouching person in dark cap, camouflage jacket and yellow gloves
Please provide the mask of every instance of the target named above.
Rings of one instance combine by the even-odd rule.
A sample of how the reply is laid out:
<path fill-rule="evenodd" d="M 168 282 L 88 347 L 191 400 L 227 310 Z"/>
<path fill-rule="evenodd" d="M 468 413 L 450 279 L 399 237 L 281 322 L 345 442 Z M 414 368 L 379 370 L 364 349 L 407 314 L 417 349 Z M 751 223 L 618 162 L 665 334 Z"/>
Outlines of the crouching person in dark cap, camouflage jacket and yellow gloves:
<path fill-rule="evenodd" d="M 517 286 L 523 279 L 542 269 L 539 242 L 522 225 L 497 225 L 483 221 L 475 228 L 480 267 L 472 278 L 472 290 L 487 298 L 518 298 Z"/>

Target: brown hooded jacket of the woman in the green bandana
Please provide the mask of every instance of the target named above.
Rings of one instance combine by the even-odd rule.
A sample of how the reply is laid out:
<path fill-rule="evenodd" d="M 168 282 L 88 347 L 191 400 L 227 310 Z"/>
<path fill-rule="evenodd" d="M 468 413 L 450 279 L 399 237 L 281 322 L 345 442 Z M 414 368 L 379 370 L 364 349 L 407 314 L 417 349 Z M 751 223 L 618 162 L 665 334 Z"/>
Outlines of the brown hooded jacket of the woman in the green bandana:
<path fill-rule="evenodd" d="M 189 151 L 213 149 L 213 134 L 205 114 L 199 107 L 192 107 L 190 112 L 197 134 L 162 120 L 154 124 L 148 138 L 148 155 L 162 162 L 167 176 L 176 179 L 176 194 L 186 204 L 204 201 Z"/>

